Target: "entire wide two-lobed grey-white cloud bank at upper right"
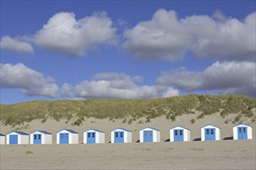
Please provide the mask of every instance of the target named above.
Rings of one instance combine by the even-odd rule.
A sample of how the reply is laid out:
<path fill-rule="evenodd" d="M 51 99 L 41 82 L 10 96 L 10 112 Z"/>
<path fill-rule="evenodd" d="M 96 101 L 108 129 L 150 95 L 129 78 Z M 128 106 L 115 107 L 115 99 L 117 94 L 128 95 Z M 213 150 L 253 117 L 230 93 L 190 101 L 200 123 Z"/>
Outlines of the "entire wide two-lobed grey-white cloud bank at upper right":
<path fill-rule="evenodd" d="M 140 58 L 181 60 L 195 57 L 252 60 L 255 57 L 255 12 L 244 21 L 227 18 L 220 11 L 213 18 L 191 15 L 178 19 L 175 11 L 157 10 L 150 21 L 126 30 L 123 48 Z"/>

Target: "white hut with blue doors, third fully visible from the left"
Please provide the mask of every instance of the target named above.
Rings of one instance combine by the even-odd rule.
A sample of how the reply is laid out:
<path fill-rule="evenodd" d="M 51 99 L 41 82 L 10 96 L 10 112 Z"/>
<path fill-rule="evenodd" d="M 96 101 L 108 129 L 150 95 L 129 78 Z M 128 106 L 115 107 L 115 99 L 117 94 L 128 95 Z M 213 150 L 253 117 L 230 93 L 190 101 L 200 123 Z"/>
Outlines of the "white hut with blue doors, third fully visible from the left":
<path fill-rule="evenodd" d="M 70 129 L 57 132 L 57 144 L 78 144 L 78 132 Z"/>

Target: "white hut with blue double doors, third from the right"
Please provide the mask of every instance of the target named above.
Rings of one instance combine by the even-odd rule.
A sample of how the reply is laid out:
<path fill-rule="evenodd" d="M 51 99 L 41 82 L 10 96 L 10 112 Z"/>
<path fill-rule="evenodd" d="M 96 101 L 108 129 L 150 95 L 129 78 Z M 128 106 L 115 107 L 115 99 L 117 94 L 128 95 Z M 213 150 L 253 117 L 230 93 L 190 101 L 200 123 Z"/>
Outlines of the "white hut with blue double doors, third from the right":
<path fill-rule="evenodd" d="M 171 128 L 170 141 L 190 141 L 190 130 L 182 126 Z"/>

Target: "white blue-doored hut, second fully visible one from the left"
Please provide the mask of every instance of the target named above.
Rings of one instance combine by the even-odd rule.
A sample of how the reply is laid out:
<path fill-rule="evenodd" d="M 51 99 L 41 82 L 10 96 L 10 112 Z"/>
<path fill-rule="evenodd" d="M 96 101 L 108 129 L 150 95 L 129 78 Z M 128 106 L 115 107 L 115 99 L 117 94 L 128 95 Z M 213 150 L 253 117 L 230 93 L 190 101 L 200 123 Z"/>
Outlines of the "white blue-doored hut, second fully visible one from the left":
<path fill-rule="evenodd" d="M 30 134 L 30 144 L 52 144 L 53 134 L 47 131 L 34 131 Z"/>

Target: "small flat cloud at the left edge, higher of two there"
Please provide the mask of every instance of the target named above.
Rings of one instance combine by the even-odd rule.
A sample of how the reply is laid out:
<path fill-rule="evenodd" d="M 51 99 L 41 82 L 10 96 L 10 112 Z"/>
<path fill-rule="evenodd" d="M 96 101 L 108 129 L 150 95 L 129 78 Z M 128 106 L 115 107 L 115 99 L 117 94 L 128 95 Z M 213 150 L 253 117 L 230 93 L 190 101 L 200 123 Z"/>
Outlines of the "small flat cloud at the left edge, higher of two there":
<path fill-rule="evenodd" d="M 16 51 L 18 53 L 33 53 L 33 47 L 29 42 L 23 39 L 12 39 L 9 36 L 4 36 L 0 42 L 1 49 Z"/>

